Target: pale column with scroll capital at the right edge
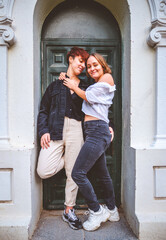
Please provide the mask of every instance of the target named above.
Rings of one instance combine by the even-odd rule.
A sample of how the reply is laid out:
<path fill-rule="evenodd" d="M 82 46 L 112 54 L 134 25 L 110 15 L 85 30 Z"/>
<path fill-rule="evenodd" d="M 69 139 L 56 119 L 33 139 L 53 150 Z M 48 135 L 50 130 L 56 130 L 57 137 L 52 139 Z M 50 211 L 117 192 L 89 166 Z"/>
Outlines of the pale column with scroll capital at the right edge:
<path fill-rule="evenodd" d="M 166 148 L 166 0 L 149 0 L 149 46 L 156 50 L 156 131 L 153 147 Z"/>

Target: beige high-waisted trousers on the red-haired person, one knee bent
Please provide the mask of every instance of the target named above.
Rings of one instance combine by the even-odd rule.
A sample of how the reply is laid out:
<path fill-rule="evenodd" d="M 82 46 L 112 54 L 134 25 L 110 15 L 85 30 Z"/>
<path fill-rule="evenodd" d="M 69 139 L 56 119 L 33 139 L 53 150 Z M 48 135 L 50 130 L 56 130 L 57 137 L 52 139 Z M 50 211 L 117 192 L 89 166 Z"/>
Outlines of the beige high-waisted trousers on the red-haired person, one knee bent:
<path fill-rule="evenodd" d="M 71 177 L 76 158 L 83 145 L 81 122 L 65 117 L 63 140 L 50 141 L 48 149 L 41 149 L 37 173 L 42 179 L 52 177 L 63 167 L 66 171 L 65 205 L 75 206 L 78 187 Z"/>

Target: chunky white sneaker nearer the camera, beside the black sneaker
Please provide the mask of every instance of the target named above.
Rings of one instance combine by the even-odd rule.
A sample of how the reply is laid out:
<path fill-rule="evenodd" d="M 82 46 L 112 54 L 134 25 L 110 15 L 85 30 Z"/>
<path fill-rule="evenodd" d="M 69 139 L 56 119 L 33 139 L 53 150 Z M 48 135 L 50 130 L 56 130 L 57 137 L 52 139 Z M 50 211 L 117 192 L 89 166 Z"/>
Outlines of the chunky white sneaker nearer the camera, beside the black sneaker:
<path fill-rule="evenodd" d="M 109 211 L 100 206 L 97 212 L 89 209 L 89 218 L 83 223 L 83 228 L 86 231 L 94 231 L 98 229 L 102 222 L 106 222 L 110 217 Z"/>

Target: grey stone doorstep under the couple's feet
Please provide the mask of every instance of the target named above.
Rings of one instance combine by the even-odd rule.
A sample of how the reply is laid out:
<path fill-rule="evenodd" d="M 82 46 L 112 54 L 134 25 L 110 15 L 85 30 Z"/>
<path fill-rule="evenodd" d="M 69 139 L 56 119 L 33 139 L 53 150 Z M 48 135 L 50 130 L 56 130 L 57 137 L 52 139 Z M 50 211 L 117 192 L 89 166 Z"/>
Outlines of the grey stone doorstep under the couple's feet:
<path fill-rule="evenodd" d="M 76 214 L 82 221 L 88 218 L 85 215 L 86 211 L 86 209 L 76 210 Z M 127 224 L 122 209 L 119 209 L 121 217 L 119 222 L 107 221 L 93 232 L 71 229 L 66 222 L 62 221 L 62 213 L 63 210 L 43 210 L 31 240 L 55 240 L 55 236 L 56 240 L 138 240 Z"/>

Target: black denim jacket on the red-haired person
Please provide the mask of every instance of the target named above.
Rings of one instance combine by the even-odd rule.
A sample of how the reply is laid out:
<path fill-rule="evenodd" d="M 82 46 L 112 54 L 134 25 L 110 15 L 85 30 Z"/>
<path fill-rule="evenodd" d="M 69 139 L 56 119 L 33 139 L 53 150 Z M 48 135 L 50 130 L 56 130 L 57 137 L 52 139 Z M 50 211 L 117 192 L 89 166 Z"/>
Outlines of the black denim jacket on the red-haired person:
<path fill-rule="evenodd" d="M 86 90 L 87 84 L 80 82 L 79 87 Z M 52 82 L 46 89 L 40 105 L 38 114 L 38 134 L 41 138 L 43 134 L 50 133 L 51 140 L 62 140 L 64 117 L 66 111 L 66 92 L 67 87 L 63 81 L 57 80 Z M 72 94 L 72 101 L 76 101 L 80 106 L 80 119 L 83 119 L 81 113 L 82 99 L 75 93 Z"/>

